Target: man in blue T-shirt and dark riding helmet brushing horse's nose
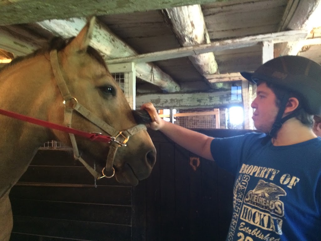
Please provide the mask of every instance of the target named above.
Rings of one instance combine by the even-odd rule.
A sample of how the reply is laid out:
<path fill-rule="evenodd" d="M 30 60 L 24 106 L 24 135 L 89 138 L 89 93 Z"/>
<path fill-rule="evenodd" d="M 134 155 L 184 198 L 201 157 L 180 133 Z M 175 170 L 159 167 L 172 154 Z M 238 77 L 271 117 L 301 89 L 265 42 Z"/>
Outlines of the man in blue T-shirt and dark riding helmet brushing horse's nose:
<path fill-rule="evenodd" d="M 321 138 L 312 126 L 321 113 L 321 66 L 283 56 L 241 74 L 257 84 L 252 118 L 265 134 L 208 137 L 163 121 L 146 103 L 156 116 L 150 127 L 235 175 L 226 240 L 320 240 Z"/>

